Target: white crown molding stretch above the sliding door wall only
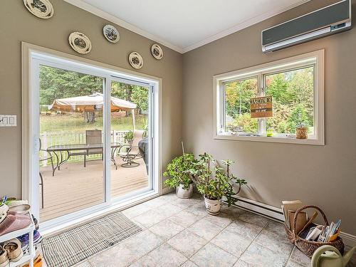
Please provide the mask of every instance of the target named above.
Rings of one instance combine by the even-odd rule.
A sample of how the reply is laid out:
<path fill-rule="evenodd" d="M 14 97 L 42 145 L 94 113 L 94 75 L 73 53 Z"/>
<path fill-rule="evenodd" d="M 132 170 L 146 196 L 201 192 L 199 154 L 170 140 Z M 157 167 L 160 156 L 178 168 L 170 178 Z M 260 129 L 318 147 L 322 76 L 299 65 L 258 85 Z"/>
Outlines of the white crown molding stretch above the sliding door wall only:
<path fill-rule="evenodd" d="M 112 16 L 111 14 L 108 14 L 108 12 L 98 9 L 95 6 L 85 3 L 84 1 L 81 1 L 81 0 L 63 0 L 63 1 L 66 1 L 67 3 L 72 4 L 73 6 L 77 6 L 78 8 L 83 9 L 85 11 L 88 11 L 91 14 L 94 14 L 95 16 L 99 16 L 100 18 L 103 18 L 103 19 L 106 19 L 107 21 L 115 23 L 115 24 L 121 26 L 122 28 L 127 28 L 127 30 L 129 30 L 129 31 L 137 33 L 140 36 L 149 38 L 150 40 L 160 43 L 163 46 L 167 46 L 168 48 L 171 48 L 174 51 L 183 53 L 183 49 L 180 48 L 179 46 L 174 46 L 172 43 L 169 43 L 169 42 L 163 40 L 162 38 L 159 38 L 151 33 L 148 33 L 147 31 L 142 30 L 142 28 L 134 26 L 131 23 L 128 23 L 122 19 L 119 19 L 119 18 L 117 18 L 117 16 Z"/>

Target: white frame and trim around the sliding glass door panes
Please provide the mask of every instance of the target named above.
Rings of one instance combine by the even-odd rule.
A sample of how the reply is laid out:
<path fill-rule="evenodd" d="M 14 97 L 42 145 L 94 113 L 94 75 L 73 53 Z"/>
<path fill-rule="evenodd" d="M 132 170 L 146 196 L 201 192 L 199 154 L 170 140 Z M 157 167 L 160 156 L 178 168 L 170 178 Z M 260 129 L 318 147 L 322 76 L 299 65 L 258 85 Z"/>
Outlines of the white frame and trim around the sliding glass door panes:
<path fill-rule="evenodd" d="M 76 211 L 70 216 L 61 216 L 53 221 L 45 223 L 45 229 L 50 229 L 52 226 L 58 224 L 66 225 L 68 221 L 78 221 L 80 218 L 84 218 L 85 214 L 100 214 L 105 213 L 112 209 L 122 209 L 130 204 L 135 204 L 137 201 L 145 201 L 147 198 L 155 197 L 162 192 L 162 79 L 156 78 L 151 75 L 145 75 L 142 73 L 136 73 L 131 70 L 118 68 L 105 63 L 97 61 L 91 61 L 78 56 L 72 56 L 66 53 L 54 51 L 41 46 L 35 46 L 30 43 L 21 43 L 22 48 L 22 198 L 28 199 L 29 203 L 33 207 L 33 214 L 39 218 L 39 202 L 38 202 L 38 187 L 32 186 L 38 184 L 38 64 L 40 61 L 46 63 L 46 66 L 56 67 L 56 63 L 53 63 L 51 58 L 62 61 L 70 65 L 66 66 L 68 70 L 79 71 L 80 73 L 86 73 L 90 75 L 97 75 L 104 78 L 106 86 L 104 86 L 106 92 L 103 92 L 106 96 L 105 103 L 110 102 L 111 92 L 111 80 L 117 80 L 120 77 L 123 83 L 135 80 L 137 83 L 145 84 L 152 88 L 152 93 L 155 95 L 152 98 L 152 105 L 155 106 L 155 112 L 152 112 L 152 120 L 155 121 L 154 127 L 150 129 L 150 135 L 153 138 L 152 154 L 154 157 L 152 164 L 152 191 L 150 192 L 138 192 L 137 194 L 130 194 L 125 199 L 112 199 L 110 198 L 110 171 L 107 173 L 108 179 L 105 181 L 104 186 L 104 199 L 103 204 L 93 206 L 88 209 Z M 36 59 L 39 58 L 39 59 Z M 48 58 L 48 61 L 46 60 Z M 35 64 L 32 66 L 32 64 Z M 85 65 L 85 68 L 83 68 Z M 58 66 L 57 66 L 58 67 Z M 82 68 L 81 68 L 82 67 Z M 36 78 L 37 77 L 37 78 Z M 37 80 L 36 80 L 37 79 Z M 37 83 L 37 85 L 36 85 Z M 110 86 L 108 86 L 110 85 Z M 106 105 L 107 109 L 104 113 L 104 125 L 105 129 L 105 141 L 110 140 L 110 105 Z M 150 114 L 150 113 L 149 113 Z M 106 115 L 106 116 L 105 116 Z M 108 130 L 109 129 L 109 130 Z M 152 132 L 151 132 L 152 131 Z M 110 142 L 105 142 L 104 148 L 105 157 L 110 153 Z M 104 172 L 110 170 L 110 160 L 105 160 L 106 167 L 103 168 Z M 37 188 L 37 189 L 36 189 Z M 141 193 L 141 194 L 140 194 Z M 43 228 L 43 226 L 41 225 Z"/>

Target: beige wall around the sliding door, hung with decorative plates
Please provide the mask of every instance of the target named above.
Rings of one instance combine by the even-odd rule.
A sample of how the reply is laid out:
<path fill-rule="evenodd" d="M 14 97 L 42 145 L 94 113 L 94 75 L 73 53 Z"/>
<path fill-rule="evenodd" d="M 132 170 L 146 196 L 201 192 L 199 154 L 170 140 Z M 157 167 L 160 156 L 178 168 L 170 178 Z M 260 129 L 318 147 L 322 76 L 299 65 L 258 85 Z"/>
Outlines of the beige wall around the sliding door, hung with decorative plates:
<path fill-rule="evenodd" d="M 85 33 L 93 44 L 83 56 L 132 70 L 130 52 L 144 58 L 139 70 L 162 78 L 162 160 L 167 163 L 180 152 L 182 139 L 182 55 L 163 47 L 164 58 L 157 61 L 150 48 L 153 41 L 117 26 L 120 41 L 112 44 L 103 37 L 104 19 L 62 0 L 51 0 L 52 19 L 38 19 L 21 0 L 1 0 L 0 8 L 0 114 L 16 114 L 17 127 L 0 128 L 0 196 L 21 196 L 21 41 L 79 56 L 68 44 L 73 31 Z"/>

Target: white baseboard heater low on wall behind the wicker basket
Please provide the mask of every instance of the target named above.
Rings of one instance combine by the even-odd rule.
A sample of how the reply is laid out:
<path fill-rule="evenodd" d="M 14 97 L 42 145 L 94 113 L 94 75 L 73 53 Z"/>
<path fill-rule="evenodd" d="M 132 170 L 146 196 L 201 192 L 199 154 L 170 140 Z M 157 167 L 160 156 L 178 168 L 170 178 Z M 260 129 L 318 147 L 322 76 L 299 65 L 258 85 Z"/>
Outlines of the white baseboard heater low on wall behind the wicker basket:
<path fill-rule="evenodd" d="M 240 209 L 251 211 L 254 214 L 258 214 L 269 219 L 284 222 L 282 209 L 278 209 L 276 206 L 270 206 L 251 199 L 246 199 L 244 197 L 238 197 L 238 199 L 239 201 L 237 201 L 236 205 L 234 206 L 237 206 Z M 345 245 L 356 246 L 356 236 L 347 234 L 345 232 L 340 232 L 340 237 L 342 238 L 342 241 L 344 241 Z"/>

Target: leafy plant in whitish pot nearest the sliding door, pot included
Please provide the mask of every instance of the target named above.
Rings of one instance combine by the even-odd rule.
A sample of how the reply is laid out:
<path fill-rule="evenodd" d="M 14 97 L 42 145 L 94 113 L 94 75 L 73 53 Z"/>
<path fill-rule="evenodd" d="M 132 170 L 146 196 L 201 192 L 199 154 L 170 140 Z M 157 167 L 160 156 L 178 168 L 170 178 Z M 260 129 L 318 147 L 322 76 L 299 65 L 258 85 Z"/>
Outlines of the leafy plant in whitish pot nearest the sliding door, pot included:
<path fill-rule="evenodd" d="M 169 188 L 175 188 L 180 199 L 190 199 L 193 195 L 193 181 L 187 170 L 192 168 L 194 162 L 196 162 L 194 155 L 183 154 L 172 159 L 163 173 L 164 177 L 169 177 L 164 184 Z"/>

